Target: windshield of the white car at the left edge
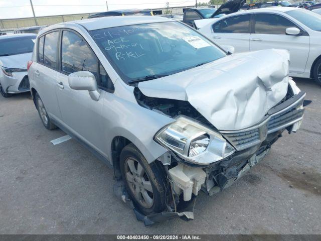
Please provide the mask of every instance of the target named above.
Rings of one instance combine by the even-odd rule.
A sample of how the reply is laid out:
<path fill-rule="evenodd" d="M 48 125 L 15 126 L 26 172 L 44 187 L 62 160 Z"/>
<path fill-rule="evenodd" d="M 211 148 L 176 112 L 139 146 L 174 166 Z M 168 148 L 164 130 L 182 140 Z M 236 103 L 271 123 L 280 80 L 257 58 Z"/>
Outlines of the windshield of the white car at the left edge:
<path fill-rule="evenodd" d="M 35 39 L 36 35 L 0 39 L 0 56 L 31 53 Z"/>

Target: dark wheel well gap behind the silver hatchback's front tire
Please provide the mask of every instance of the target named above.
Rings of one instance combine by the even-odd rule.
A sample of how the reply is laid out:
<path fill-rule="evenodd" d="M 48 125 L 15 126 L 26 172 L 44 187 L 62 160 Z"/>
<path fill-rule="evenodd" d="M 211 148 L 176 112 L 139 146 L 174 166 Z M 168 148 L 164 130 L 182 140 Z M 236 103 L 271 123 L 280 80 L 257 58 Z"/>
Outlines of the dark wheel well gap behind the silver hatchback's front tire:
<path fill-rule="evenodd" d="M 119 167 L 120 153 L 122 149 L 130 143 L 132 142 L 121 136 L 114 137 L 114 139 L 111 142 L 112 164 L 114 167 L 114 179 L 116 180 L 121 179 L 121 173 L 120 173 L 120 167 Z"/>

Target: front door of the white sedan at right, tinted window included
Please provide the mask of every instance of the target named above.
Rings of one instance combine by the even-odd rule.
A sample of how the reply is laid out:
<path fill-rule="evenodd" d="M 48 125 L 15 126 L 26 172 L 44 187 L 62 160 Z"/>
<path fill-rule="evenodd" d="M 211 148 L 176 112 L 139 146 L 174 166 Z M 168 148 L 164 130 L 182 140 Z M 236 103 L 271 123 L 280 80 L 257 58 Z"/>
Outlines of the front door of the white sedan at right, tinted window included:
<path fill-rule="evenodd" d="M 308 34 L 284 16 L 264 13 L 254 15 L 254 30 L 250 38 L 250 50 L 286 49 L 290 52 L 290 73 L 303 73 L 309 53 Z M 298 36 L 286 35 L 285 29 L 298 28 Z"/>

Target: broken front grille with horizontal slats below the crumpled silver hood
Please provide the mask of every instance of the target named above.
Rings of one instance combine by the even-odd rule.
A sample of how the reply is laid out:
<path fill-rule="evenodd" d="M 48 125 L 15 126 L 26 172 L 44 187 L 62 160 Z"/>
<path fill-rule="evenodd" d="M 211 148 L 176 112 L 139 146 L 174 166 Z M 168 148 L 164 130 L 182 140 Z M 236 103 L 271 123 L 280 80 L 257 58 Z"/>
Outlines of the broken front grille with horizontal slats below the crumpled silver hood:
<path fill-rule="evenodd" d="M 264 141 L 267 134 L 291 126 L 302 118 L 304 109 L 298 107 L 302 105 L 303 97 L 290 108 L 284 108 L 286 110 L 279 110 L 278 112 L 271 114 L 256 127 L 248 128 L 245 131 L 222 131 L 222 134 L 238 151 L 255 146 Z"/>

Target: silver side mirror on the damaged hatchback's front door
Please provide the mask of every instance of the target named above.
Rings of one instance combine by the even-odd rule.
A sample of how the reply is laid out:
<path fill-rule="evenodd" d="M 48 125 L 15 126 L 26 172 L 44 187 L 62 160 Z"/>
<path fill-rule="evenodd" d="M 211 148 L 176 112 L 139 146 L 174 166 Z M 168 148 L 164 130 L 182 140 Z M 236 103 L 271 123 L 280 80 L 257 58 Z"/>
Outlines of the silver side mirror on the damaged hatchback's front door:
<path fill-rule="evenodd" d="M 98 89 L 96 78 L 89 71 L 78 71 L 69 74 L 68 83 L 72 89 L 88 90 L 93 100 L 99 100 L 100 90 Z"/>

